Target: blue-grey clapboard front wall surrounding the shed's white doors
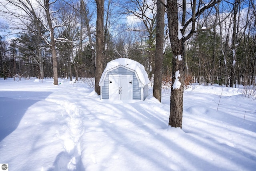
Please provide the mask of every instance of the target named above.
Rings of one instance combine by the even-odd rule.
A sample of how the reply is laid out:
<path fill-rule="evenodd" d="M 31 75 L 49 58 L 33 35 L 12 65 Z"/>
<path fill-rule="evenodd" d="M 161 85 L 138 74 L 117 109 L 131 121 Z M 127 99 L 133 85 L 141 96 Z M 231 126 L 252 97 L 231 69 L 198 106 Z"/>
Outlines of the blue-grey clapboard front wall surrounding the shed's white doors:
<path fill-rule="evenodd" d="M 134 72 L 132 71 L 129 71 L 129 70 L 126 70 L 125 68 L 122 68 L 122 67 L 119 67 L 119 68 L 116 68 L 115 70 L 112 70 L 110 72 L 108 72 L 108 74 L 106 75 L 106 78 L 104 80 L 104 86 L 102 87 L 102 99 L 109 99 L 109 80 L 108 80 L 108 77 L 109 75 L 116 75 L 116 74 L 119 74 L 119 75 L 132 75 L 132 80 L 133 80 L 133 83 L 132 83 L 132 88 L 133 88 L 133 91 L 132 91 L 132 99 L 138 99 L 140 100 L 140 88 L 139 88 L 139 82 L 136 78 L 136 75 Z"/>

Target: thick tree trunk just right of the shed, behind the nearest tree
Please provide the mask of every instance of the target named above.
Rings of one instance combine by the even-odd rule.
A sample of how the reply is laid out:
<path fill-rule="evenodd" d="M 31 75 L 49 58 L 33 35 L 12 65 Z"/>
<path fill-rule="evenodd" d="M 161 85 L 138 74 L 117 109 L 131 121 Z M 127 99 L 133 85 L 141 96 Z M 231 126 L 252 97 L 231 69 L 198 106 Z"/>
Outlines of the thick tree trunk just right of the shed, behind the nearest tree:
<path fill-rule="evenodd" d="M 156 2 L 156 56 L 154 68 L 153 96 L 161 102 L 162 97 L 162 72 L 164 50 L 164 13 L 165 6 L 162 0 Z"/>

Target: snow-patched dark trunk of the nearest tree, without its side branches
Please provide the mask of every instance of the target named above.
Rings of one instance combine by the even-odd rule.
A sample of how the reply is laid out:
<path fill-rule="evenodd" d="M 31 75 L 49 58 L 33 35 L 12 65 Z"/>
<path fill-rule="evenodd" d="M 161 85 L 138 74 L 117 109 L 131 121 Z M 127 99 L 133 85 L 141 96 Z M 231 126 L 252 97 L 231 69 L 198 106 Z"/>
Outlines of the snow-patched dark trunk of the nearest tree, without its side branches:
<path fill-rule="evenodd" d="M 169 125 L 182 128 L 184 87 L 184 39 L 178 37 L 178 3 L 167 0 L 169 35 L 172 46 L 172 89 Z"/>

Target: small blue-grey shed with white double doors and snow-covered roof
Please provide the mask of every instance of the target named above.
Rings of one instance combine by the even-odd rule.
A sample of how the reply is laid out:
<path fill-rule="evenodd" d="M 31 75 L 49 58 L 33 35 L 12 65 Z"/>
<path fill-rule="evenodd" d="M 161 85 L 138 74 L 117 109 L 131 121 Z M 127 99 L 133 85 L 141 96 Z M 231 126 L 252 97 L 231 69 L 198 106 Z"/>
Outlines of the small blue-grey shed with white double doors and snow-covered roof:
<path fill-rule="evenodd" d="M 108 62 L 100 78 L 100 99 L 138 99 L 148 96 L 148 74 L 142 64 L 119 58 Z"/>

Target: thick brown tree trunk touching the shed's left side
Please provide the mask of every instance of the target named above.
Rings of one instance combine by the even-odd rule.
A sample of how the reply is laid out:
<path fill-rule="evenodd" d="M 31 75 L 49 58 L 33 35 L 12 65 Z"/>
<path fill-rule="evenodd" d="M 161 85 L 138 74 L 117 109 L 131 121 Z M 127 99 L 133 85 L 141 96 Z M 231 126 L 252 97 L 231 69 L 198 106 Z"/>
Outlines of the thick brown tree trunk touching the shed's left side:
<path fill-rule="evenodd" d="M 103 52 L 104 52 L 104 0 L 96 0 L 97 21 L 96 21 L 96 71 L 95 71 L 95 91 L 100 95 L 100 77 L 103 72 Z"/>

